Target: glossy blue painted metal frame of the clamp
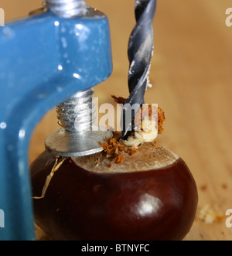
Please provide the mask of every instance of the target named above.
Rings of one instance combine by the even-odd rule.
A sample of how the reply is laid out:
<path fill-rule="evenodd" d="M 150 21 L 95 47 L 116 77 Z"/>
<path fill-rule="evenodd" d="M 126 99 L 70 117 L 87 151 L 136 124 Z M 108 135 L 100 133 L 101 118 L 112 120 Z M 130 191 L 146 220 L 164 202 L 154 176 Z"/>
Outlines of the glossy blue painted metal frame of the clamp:
<path fill-rule="evenodd" d="M 107 17 L 51 12 L 0 28 L 0 240 L 34 240 L 29 138 L 56 104 L 111 75 Z"/>

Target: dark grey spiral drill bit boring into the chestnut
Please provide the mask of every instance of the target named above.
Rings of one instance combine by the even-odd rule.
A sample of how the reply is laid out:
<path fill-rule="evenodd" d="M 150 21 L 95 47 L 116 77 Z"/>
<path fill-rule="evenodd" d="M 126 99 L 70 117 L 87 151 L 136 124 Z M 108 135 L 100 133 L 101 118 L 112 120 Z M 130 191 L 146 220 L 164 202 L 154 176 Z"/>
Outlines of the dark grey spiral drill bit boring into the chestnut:
<path fill-rule="evenodd" d="M 128 72 L 129 97 L 125 101 L 121 125 L 121 137 L 128 138 L 135 129 L 135 113 L 144 104 L 144 94 L 148 87 L 148 73 L 151 66 L 153 52 L 152 21 L 155 15 L 156 0 L 136 0 L 136 25 L 128 43 Z"/>

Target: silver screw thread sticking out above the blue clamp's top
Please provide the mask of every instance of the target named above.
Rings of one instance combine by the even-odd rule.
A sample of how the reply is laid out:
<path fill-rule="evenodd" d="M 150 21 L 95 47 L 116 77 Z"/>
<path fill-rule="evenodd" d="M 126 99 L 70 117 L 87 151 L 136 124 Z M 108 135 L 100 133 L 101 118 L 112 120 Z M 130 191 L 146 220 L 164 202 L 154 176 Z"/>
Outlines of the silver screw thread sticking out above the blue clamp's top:
<path fill-rule="evenodd" d="M 87 12 L 84 0 L 47 0 L 46 5 L 51 12 L 63 18 L 82 16 Z"/>

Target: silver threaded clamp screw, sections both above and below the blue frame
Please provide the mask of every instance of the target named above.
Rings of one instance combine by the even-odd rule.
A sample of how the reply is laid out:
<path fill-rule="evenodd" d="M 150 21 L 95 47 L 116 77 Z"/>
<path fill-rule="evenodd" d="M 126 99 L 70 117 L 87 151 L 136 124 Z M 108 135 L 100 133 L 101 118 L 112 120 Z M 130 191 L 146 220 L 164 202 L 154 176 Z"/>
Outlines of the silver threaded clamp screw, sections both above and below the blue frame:
<path fill-rule="evenodd" d="M 63 18 L 85 15 L 87 5 L 84 0 L 47 0 L 47 8 Z M 90 131 L 96 118 L 94 89 L 82 90 L 67 101 L 57 105 L 58 124 L 67 131 Z"/>

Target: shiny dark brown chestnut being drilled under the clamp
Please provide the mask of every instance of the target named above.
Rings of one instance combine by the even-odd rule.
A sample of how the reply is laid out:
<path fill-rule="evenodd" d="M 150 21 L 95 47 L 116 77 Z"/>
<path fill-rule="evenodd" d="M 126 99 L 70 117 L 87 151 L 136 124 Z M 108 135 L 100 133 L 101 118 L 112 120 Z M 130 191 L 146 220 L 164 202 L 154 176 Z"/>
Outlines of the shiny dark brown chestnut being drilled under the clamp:
<path fill-rule="evenodd" d="M 43 152 L 32 163 L 33 196 L 41 194 L 55 160 Z M 182 240 L 198 201 L 183 159 L 144 145 L 122 165 L 110 169 L 107 161 L 103 153 L 67 158 L 45 197 L 33 200 L 36 224 L 53 240 Z"/>

